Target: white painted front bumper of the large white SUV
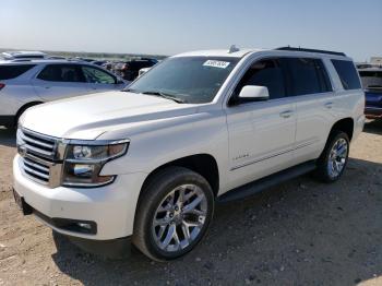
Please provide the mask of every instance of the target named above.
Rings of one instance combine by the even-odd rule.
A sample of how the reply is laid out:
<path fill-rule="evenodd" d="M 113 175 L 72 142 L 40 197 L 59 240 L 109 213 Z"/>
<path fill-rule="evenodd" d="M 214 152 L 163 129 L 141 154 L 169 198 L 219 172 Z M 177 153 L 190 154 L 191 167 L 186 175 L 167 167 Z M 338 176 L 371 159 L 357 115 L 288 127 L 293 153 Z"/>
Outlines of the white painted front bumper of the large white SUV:
<path fill-rule="evenodd" d="M 13 160 L 14 190 L 33 208 L 36 217 L 56 231 L 71 237 L 110 240 L 131 236 L 143 172 L 119 175 L 102 188 L 47 188 L 28 179 L 21 168 L 21 157 Z M 52 219 L 94 222 L 95 234 L 63 229 Z"/>

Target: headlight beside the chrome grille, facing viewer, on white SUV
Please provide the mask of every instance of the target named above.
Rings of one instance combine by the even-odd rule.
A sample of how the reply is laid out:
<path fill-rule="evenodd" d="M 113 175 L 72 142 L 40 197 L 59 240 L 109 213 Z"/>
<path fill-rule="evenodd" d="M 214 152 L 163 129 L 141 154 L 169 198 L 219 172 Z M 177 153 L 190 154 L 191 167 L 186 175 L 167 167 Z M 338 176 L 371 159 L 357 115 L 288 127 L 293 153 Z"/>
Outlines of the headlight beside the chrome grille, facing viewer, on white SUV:
<path fill-rule="evenodd" d="M 107 145 L 68 145 L 62 186 L 100 187 L 112 182 L 116 176 L 99 176 L 104 165 L 128 151 L 129 142 L 111 142 Z"/>

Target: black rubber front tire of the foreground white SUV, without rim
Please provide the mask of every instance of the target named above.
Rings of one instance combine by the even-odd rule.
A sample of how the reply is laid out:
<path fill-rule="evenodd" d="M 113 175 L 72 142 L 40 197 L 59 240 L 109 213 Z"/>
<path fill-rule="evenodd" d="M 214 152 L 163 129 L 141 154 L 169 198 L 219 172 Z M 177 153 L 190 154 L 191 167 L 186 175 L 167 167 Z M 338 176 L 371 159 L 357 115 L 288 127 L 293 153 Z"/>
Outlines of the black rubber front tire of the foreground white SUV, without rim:
<path fill-rule="evenodd" d="M 187 247 L 177 251 L 164 251 L 154 240 L 153 219 L 156 211 L 176 188 L 194 184 L 202 190 L 206 215 L 200 233 Z M 210 183 L 198 172 L 182 167 L 168 167 L 151 177 L 139 199 L 132 241 L 148 258 L 156 261 L 174 260 L 191 251 L 203 238 L 214 213 L 214 194 Z M 167 231 L 169 231 L 169 228 Z M 172 241 L 172 240 L 171 240 Z"/>

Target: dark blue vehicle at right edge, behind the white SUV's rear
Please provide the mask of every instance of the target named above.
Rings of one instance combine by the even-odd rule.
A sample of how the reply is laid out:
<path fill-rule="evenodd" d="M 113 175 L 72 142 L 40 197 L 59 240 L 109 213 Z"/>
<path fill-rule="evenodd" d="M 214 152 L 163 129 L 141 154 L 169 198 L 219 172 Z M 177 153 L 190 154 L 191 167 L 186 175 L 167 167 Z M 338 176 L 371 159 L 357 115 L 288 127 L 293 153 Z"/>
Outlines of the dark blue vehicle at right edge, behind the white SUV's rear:
<path fill-rule="evenodd" d="M 365 115 L 369 119 L 382 118 L 382 68 L 358 70 L 366 95 Z"/>

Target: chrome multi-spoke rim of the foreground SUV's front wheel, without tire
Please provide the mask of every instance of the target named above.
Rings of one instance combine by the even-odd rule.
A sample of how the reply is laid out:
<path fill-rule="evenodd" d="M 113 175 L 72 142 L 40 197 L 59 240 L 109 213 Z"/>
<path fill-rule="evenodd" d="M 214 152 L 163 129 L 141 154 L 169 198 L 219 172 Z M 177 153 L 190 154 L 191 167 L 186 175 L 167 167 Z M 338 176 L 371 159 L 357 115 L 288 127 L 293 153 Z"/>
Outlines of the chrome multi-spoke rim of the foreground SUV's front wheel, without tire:
<path fill-rule="evenodd" d="M 174 189 L 157 207 L 152 233 L 156 246 L 167 252 L 187 248 L 201 233 L 207 215 L 207 200 L 195 184 Z"/>

